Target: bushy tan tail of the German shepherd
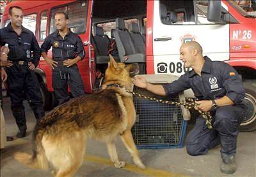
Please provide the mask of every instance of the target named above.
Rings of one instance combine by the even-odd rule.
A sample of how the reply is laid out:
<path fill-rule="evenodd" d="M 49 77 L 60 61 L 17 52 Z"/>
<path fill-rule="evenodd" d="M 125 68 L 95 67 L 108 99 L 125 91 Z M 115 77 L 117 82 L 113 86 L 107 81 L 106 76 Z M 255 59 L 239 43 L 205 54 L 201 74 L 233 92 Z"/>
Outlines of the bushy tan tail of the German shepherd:
<path fill-rule="evenodd" d="M 28 153 L 17 152 L 14 154 L 14 158 L 20 163 L 25 164 L 33 169 L 47 170 L 49 163 L 45 155 L 44 147 L 42 146 L 43 132 L 36 129 L 33 131 L 32 136 L 32 155 Z"/>

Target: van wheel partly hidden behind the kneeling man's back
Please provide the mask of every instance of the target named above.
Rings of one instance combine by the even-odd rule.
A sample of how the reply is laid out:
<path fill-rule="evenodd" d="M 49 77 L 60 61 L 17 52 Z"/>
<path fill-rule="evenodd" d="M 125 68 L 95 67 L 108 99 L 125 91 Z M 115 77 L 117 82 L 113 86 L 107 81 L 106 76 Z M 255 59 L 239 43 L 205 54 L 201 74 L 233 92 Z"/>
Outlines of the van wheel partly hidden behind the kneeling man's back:
<path fill-rule="evenodd" d="M 247 107 L 246 116 L 240 124 L 239 130 L 242 132 L 251 132 L 256 130 L 256 86 L 253 85 L 255 80 L 244 81 L 246 96 L 243 103 Z"/>

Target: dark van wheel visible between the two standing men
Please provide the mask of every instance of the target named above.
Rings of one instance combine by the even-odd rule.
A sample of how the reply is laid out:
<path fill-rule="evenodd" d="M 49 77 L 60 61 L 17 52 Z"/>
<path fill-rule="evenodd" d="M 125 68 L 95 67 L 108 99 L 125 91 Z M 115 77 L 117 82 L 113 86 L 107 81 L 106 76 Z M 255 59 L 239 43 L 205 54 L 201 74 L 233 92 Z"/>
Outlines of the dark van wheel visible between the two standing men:
<path fill-rule="evenodd" d="M 42 95 L 44 110 L 45 111 L 52 110 L 52 108 L 54 106 L 53 105 L 54 101 L 52 101 L 52 99 L 54 99 L 54 97 L 52 96 L 53 93 L 51 93 L 47 90 L 44 83 L 40 83 L 40 92 L 41 92 L 41 95 Z"/>

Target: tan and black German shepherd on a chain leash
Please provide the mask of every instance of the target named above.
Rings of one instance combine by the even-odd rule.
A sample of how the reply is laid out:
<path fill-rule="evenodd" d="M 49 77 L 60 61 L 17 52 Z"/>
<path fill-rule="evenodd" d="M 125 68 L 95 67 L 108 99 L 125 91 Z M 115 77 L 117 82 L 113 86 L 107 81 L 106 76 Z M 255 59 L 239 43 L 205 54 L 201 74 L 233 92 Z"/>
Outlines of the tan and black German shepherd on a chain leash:
<path fill-rule="evenodd" d="M 52 176 L 73 176 L 81 166 L 88 136 L 105 142 L 115 167 L 125 166 L 118 160 L 115 138 L 121 136 L 134 164 L 145 169 L 132 138 L 135 108 L 131 77 L 138 74 L 138 64 L 125 66 L 111 56 L 102 90 L 72 99 L 55 108 L 37 122 L 32 137 L 32 155 L 15 153 L 15 159 L 35 169 L 47 170 Z"/>

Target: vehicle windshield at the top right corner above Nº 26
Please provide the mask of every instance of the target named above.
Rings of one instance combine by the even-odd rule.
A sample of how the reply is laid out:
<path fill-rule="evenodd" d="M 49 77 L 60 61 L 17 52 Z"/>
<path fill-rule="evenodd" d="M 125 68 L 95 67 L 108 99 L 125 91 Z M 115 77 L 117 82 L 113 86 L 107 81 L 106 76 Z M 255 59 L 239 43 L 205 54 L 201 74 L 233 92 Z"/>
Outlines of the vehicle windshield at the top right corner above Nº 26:
<path fill-rule="evenodd" d="M 256 0 L 227 2 L 244 17 L 256 18 Z"/>

